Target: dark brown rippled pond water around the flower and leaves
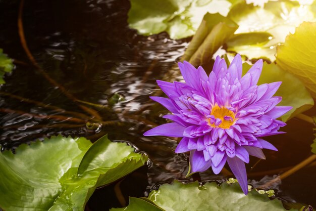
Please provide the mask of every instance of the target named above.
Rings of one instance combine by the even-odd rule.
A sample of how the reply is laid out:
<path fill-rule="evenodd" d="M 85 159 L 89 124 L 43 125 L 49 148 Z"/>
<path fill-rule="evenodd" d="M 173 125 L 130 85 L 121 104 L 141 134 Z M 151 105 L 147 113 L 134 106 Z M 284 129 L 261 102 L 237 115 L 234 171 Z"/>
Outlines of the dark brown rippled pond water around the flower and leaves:
<path fill-rule="evenodd" d="M 167 111 L 148 97 L 159 92 L 156 79 L 181 79 L 175 61 L 189 39 L 175 41 L 164 33 L 137 35 L 128 28 L 127 0 L 25 1 L 24 33 L 37 64 L 77 100 L 99 105 L 93 106 L 67 97 L 32 65 L 18 34 L 19 5 L 20 1 L 0 0 L 0 48 L 16 60 L 16 68 L 0 88 L 2 149 L 57 134 L 92 141 L 109 134 L 111 140 L 129 141 L 145 151 L 152 162 L 120 183 L 126 200 L 147 195 L 157 185 L 175 179 L 192 181 L 185 179 L 187 155 L 174 153 L 176 140 L 142 136 L 153 125 L 165 122 L 161 116 Z M 91 118 L 82 105 L 96 110 L 101 120 Z M 279 152 L 267 150 L 267 160 L 258 162 L 253 157 L 247 165 L 253 184 L 281 174 L 311 154 L 312 125 L 292 119 L 283 131 L 287 134 L 267 139 Z M 275 186 L 278 196 L 316 207 L 315 165 Z M 202 181 L 225 179 L 212 171 L 200 176 Z M 116 185 L 98 189 L 86 209 L 120 206 Z"/>

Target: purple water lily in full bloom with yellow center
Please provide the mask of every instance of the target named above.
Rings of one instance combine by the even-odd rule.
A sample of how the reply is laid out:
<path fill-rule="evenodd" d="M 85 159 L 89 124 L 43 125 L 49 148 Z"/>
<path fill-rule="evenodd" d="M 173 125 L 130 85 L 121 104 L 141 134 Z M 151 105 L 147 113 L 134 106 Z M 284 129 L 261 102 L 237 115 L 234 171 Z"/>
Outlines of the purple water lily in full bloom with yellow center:
<path fill-rule="evenodd" d="M 277 149 L 262 137 L 281 134 L 286 125 L 276 118 L 292 107 L 276 106 L 281 97 L 273 97 L 281 82 L 257 86 L 262 69 L 258 60 L 242 77 L 242 61 L 236 55 L 227 68 L 217 57 L 207 76 L 202 67 L 178 63 L 185 83 L 157 80 L 168 98 L 151 97 L 172 114 L 164 118 L 174 122 L 153 128 L 144 136 L 183 137 L 176 153 L 190 151 L 192 172 L 209 167 L 219 174 L 226 161 L 241 189 L 248 193 L 245 162 L 249 155 L 265 159 L 261 149 Z"/>

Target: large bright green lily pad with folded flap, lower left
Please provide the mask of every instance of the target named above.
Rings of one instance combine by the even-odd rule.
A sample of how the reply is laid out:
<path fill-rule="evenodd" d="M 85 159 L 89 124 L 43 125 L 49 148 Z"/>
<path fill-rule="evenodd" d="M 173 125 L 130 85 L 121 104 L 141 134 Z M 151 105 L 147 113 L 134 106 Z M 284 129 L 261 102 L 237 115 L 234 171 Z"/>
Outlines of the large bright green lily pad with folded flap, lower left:
<path fill-rule="evenodd" d="M 96 187 L 131 173 L 146 159 L 131 146 L 106 136 L 94 144 L 62 136 L 24 144 L 15 154 L 0 154 L 0 207 L 83 210 Z"/>

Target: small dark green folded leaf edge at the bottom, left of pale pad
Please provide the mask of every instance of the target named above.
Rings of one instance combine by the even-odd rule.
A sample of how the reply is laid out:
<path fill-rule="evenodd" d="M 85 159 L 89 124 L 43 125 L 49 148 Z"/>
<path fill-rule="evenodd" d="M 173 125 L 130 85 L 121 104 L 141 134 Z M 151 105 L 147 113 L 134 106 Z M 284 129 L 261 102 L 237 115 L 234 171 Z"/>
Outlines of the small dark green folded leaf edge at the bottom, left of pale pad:
<path fill-rule="evenodd" d="M 141 198 L 134 198 L 129 197 L 129 204 L 125 208 L 112 208 L 111 211 L 120 211 L 120 210 L 127 210 L 127 211 L 164 211 L 164 209 L 161 209 L 157 207 L 156 205 L 141 199 Z"/>

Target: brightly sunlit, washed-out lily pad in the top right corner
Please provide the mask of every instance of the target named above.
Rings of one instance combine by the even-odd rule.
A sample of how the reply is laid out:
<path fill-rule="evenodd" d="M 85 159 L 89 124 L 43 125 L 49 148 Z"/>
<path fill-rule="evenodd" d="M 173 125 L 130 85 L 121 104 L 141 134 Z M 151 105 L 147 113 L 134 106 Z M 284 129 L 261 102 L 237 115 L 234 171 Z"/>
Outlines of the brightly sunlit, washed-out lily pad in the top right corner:
<path fill-rule="evenodd" d="M 227 17 L 239 25 L 235 34 L 243 34 L 245 39 L 254 39 L 254 32 L 272 35 L 260 45 L 229 45 L 228 51 L 245 55 L 249 59 L 265 58 L 275 61 L 276 47 L 284 43 L 285 37 L 290 32 L 293 33 L 295 27 L 303 21 L 316 21 L 316 11 L 314 5 L 301 6 L 298 2 L 289 0 L 270 1 L 264 7 L 241 2 L 232 7 Z"/>

